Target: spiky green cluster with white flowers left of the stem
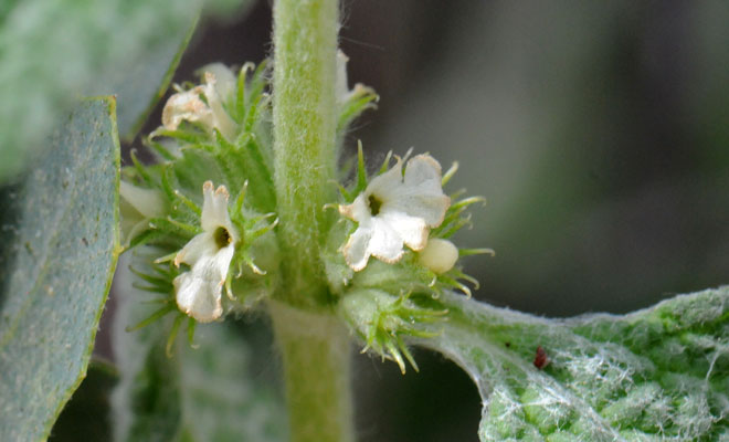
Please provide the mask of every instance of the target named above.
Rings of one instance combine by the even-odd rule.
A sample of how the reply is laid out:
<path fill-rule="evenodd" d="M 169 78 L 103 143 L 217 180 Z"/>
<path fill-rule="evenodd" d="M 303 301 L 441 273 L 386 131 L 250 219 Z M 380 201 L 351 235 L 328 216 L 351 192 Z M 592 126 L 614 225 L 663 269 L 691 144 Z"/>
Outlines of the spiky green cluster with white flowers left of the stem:
<path fill-rule="evenodd" d="M 200 85 L 176 86 L 147 139 L 157 164 L 133 154 L 119 192 L 124 244 L 144 246 L 135 272 L 144 288 L 162 295 L 155 299 L 162 307 L 139 324 L 175 314 L 171 339 L 182 319 L 190 330 L 220 320 L 277 284 L 263 278 L 278 266 L 270 156 L 262 155 L 270 149 L 265 64 L 244 65 L 237 80 L 221 64 L 201 76 Z M 257 182 L 249 190 L 250 178 Z"/>

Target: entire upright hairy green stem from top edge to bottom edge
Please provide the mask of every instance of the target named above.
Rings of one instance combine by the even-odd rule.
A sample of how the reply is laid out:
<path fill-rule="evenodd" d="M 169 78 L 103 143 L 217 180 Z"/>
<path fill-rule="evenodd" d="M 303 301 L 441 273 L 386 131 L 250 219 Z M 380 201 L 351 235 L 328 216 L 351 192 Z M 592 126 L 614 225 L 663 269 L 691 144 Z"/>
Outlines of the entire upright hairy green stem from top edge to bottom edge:
<path fill-rule="evenodd" d="M 349 442 L 349 335 L 321 311 L 319 259 L 336 178 L 337 0 L 274 3 L 274 183 L 284 253 L 283 287 L 268 304 L 282 354 L 292 441 Z M 299 309 L 304 307 L 305 309 Z"/>

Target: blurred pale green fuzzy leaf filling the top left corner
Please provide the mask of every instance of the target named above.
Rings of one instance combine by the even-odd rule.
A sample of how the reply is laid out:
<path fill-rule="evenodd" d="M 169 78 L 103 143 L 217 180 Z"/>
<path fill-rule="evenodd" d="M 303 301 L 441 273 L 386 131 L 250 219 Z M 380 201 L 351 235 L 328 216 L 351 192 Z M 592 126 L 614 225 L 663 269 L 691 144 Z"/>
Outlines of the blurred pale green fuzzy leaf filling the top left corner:
<path fill-rule="evenodd" d="M 250 0 L 4 0 L 0 4 L 0 180 L 22 170 L 76 96 L 116 94 L 130 137 L 187 45 L 204 6 Z M 171 67 L 170 67 L 171 66 Z"/>

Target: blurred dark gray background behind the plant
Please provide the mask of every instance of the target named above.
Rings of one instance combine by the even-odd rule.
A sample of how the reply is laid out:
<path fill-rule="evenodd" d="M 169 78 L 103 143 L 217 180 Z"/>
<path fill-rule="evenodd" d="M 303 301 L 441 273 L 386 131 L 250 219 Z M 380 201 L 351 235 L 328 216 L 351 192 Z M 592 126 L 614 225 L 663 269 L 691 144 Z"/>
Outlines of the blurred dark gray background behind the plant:
<path fill-rule="evenodd" d="M 458 160 L 446 190 L 488 200 L 455 240 L 496 250 L 466 262 L 478 299 L 624 313 L 729 283 L 729 3 L 348 0 L 342 17 L 350 84 L 381 97 L 349 148 Z M 202 23 L 176 81 L 260 62 L 271 29 L 266 1 Z M 416 358 L 402 377 L 358 357 L 361 440 L 477 441 L 475 387 Z"/>

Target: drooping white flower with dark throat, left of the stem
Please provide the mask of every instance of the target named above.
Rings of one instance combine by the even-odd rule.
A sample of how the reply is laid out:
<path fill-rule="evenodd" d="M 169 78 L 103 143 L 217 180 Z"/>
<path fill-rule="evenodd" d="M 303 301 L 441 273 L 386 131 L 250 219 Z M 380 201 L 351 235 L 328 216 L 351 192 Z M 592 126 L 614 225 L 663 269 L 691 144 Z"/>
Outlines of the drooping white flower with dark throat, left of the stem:
<path fill-rule="evenodd" d="M 239 234 L 228 214 L 225 186 L 213 190 L 213 183 L 205 181 L 202 194 L 203 232 L 175 256 L 175 265 L 186 263 L 192 269 L 176 277 L 173 284 L 178 307 L 194 319 L 209 323 L 223 314 L 221 292 Z"/>

